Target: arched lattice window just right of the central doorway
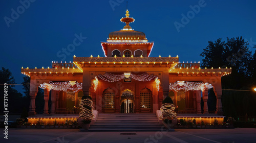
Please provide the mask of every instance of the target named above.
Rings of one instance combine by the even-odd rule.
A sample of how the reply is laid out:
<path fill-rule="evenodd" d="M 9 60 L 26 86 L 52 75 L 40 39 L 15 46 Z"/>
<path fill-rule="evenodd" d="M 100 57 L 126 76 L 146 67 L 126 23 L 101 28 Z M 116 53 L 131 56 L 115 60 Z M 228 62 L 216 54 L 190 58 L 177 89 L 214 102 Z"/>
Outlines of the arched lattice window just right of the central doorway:
<path fill-rule="evenodd" d="M 151 108 L 152 92 L 148 88 L 140 91 L 140 108 Z"/>

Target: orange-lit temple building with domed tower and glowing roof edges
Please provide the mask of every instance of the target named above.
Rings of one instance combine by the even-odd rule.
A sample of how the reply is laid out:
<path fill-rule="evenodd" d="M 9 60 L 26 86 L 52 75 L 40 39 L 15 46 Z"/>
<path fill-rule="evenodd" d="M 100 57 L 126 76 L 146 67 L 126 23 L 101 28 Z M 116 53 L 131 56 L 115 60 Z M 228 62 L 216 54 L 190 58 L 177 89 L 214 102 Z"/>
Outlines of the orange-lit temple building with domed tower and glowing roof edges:
<path fill-rule="evenodd" d="M 31 78 L 29 118 L 76 118 L 83 95 L 91 96 L 94 110 L 102 114 L 156 114 L 163 99 L 170 96 L 178 107 L 178 117 L 223 117 L 221 77 L 231 69 L 200 68 L 199 62 L 180 62 L 178 55 L 150 57 L 154 42 L 132 29 L 134 18 L 129 17 L 128 10 L 125 16 L 120 19 L 124 28 L 111 32 L 106 42 L 101 42 L 105 57 L 74 56 L 69 63 L 21 69 Z M 35 112 L 38 87 L 44 89 L 42 114 Z M 208 111 L 209 89 L 215 92 L 216 111 Z"/>

